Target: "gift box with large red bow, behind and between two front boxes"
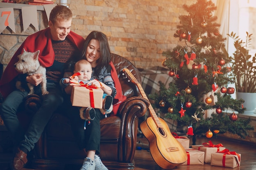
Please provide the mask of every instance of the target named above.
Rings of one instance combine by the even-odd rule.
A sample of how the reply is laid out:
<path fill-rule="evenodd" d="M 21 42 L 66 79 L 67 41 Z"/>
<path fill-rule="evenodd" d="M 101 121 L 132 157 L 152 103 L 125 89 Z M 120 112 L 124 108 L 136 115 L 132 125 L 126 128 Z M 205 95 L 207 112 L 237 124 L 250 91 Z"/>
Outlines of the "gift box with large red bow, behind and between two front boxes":
<path fill-rule="evenodd" d="M 211 154 L 215 152 L 219 152 L 220 150 L 224 150 L 222 144 L 213 145 L 211 141 L 209 143 L 204 143 L 202 145 L 192 145 L 193 149 L 200 150 L 204 152 L 204 163 L 211 162 Z"/>

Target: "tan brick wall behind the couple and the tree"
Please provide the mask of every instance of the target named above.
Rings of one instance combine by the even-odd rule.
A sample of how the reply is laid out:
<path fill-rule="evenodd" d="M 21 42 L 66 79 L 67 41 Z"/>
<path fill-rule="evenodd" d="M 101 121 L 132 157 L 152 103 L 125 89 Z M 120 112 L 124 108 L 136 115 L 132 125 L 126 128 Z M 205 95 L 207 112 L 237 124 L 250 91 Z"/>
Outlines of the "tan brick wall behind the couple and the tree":
<path fill-rule="evenodd" d="M 108 35 L 112 53 L 127 58 L 139 68 L 150 68 L 162 66 L 164 60 L 162 52 L 173 49 L 181 43 L 173 37 L 173 34 L 180 22 L 179 15 L 187 14 L 182 5 L 193 4 L 196 0 L 68 0 L 67 2 L 73 12 L 72 31 L 83 37 L 93 30 L 102 31 Z M 5 30 L 4 34 L 8 35 L 7 32 L 8 30 Z M 25 35 L 29 33 L 33 31 L 26 31 Z M 0 56 L 9 53 L 10 48 L 13 48 L 12 45 L 16 44 L 15 40 L 9 42 L 9 38 L 0 35 Z M 19 40 L 22 41 L 23 39 Z M 2 46 L 6 42 L 11 44 L 7 47 Z"/>

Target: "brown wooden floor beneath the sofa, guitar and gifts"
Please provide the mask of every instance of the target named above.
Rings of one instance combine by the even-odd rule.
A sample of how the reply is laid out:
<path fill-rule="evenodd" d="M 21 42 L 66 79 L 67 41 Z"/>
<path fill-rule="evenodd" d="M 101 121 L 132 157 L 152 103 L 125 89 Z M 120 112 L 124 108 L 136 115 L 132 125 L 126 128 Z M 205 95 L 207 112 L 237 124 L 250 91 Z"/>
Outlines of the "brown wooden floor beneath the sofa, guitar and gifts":
<path fill-rule="evenodd" d="M 211 166 L 210 163 L 204 163 L 204 165 L 190 165 L 190 166 L 178 166 L 175 170 L 256 170 L 256 147 L 255 144 L 245 144 L 240 141 L 223 139 L 222 137 L 208 139 L 206 137 L 197 138 L 196 144 L 202 144 L 211 140 L 213 144 L 223 144 L 230 151 L 235 151 L 241 154 L 240 167 L 236 168 L 224 168 L 218 166 Z M 137 141 L 142 145 L 141 150 L 135 152 L 135 170 L 163 170 L 160 168 L 150 155 L 148 148 L 148 141 L 145 137 L 138 137 Z M 191 140 L 190 140 L 191 141 Z M 7 168 L 8 157 L 0 154 L 0 170 L 9 170 Z M 4 163 L 5 162 L 5 163 Z M 22 170 L 31 170 L 23 168 Z M 72 170 L 72 169 L 70 169 Z"/>

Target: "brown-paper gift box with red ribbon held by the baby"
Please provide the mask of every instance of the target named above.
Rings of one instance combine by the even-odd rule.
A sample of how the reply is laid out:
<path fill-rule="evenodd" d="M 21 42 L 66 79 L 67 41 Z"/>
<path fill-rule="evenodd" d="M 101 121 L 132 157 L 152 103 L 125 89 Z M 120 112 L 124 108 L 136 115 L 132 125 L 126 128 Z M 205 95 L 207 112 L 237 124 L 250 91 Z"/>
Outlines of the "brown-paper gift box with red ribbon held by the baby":
<path fill-rule="evenodd" d="M 102 97 L 103 90 L 101 88 L 73 86 L 70 100 L 72 106 L 102 108 Z"/>

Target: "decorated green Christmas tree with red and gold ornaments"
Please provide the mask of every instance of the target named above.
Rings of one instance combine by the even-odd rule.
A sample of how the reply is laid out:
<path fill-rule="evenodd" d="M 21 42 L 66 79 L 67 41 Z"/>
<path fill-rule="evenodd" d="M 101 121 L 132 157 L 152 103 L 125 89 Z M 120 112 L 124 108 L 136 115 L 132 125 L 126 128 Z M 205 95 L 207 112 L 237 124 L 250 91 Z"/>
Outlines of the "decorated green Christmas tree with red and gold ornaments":
<path fill-rule="evenodd" d="M 165 51 L 162 62 L 174 82 L 166 88 L 159 82 L 159 93 L 149 95 L 154 108 L 176 120 L 179 127 L 187 128 L 187 135 L 213 135 L 231 132 L 242 138 L 248 135 L 250 119 L 238 119 L 242 114 L 243 99 L 233 99 L 234 83 L 230 72 L 229 56 L 225 51 L 225 38 L 219 33 L 220 24 L 213 11 L 217 9 L 209 0 L 198 0 L 190 6 L 184 4 L 187 15 L 180 15 L 180 24 L 174 37 L 184 41 L 173 50 Z M 205 117 L 210 110 L 211 117 Z M 232 114 L 227 113 L 231 110 Z"/>

